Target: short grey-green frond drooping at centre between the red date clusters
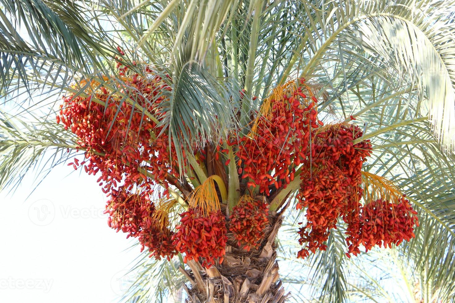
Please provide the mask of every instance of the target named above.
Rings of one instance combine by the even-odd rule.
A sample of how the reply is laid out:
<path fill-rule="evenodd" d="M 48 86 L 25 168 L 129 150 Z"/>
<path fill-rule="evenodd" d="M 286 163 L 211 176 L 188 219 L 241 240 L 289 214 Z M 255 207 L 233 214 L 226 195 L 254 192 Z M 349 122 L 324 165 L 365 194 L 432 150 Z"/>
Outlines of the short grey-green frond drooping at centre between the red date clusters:
<path fill-rule="evenodd" d="M 175 146 L 197 150 L 206 142 L 217 143 L 222 135 L 238 127 L 238 93 L 222 86 L 195 63 L 190 64 L 180 72 L 161 110 Z"/>

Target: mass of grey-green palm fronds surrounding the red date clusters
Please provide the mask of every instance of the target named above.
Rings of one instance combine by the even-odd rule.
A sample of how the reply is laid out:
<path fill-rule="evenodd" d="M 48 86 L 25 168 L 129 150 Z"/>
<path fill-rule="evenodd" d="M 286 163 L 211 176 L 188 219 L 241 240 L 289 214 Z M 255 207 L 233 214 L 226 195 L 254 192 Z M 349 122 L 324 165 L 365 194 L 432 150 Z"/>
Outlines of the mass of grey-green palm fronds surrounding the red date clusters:
<path fill-rule="evenodd" d="M 449 0 L 2 0 L 0 79 L 2 109 L 8 114 L 1 116 L 0 188 L 40 161 L 66 159 L 63 150 L 74 148 L 72 137 L 57 129 L 54 114 L 45 110 L 62 92 L 85 94 L 84 88 L 69 86 L 76 78 L 121 82 L 111 68 L 116 56 L 147 62 L 170 75 L 173 90 L 162 104 L 163 123 L 174 144 L 182 146 L 216 142 L 236 125 L 246 126 L 250 110 L 273 87 L 304 75 L 322 85 L 321 94 L 327 92 L 320 106 L 327 113 L 324 122 L 357 118 L 375 146 L 367 169 L 396 181 L 420 206 L 415 241 L 394 253 L 415 268 L 414 278 L 431 281 L 437 296 L 450 300 L 447 281 L 454 280 L 455 272 L 450 255 L 455 231 L 455 159 L 450 154 L 454 5 Z M 101 75 L 114 75 L 114 80 Z M 242 88 L 243 100 L 238 95 Z M 250 101 L 253 95 L 259 98 Z M 122 98 L 137 106 L 128 96 Z M 241 109 L 239 118 L 234 109 Z M 20 125 L 20 120 L 34 126 Z M 182 126 L 187 132 L 181 132 Z M 194 136 L 198 133 L 200 141 Z M 21 153 L 24 148 L 29 152 Z M 333 233 L 328 251 L 304 263 L 313 265 L 311 282 L 320 302 L 342 302 L 352 290 L 379 289 L 375 283 L 350 283 L 342 236 Z M 152 295 L 150 279 L 139 282 L 136 300 L 142 293 Z"/>

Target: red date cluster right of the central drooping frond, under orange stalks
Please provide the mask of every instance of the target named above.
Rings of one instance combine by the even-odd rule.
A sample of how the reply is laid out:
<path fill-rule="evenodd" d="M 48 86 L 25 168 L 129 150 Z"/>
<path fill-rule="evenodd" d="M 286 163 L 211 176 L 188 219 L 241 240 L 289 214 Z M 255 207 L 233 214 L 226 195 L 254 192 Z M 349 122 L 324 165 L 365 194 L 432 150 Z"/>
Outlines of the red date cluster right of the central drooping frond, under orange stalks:
<path fill-rule="evenodd" d="M 251 134 L 233 141 L 238 145 L 238 166 L 243 164 L 239 174 L 248 178 L 248 186 L 259 187 L 259 193 L 267 196 L 269 187 L 286 188 L 294 179 L 295 166 L 305 159 L 311 130 L 323 124 L 317 119 L 317 99 L 307 97 L 302 86 L 292 83 L 271 98 L 271 109 L 258 114 Z"/>

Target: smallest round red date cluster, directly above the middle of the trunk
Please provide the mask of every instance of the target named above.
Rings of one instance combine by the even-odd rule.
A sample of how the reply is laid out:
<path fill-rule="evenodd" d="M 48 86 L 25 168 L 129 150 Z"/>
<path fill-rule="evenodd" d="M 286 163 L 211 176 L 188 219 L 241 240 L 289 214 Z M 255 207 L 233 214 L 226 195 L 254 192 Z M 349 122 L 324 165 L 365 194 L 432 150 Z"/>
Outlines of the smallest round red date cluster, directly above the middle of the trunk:
<path fill-rule="evenodd" d="M 234 206 L 229 229 L 237 245 L 246 251 L 258 249 L 264 237 L 264 228 L 268 226 L 268 204 L 258 199 L 240 201 Z"/>

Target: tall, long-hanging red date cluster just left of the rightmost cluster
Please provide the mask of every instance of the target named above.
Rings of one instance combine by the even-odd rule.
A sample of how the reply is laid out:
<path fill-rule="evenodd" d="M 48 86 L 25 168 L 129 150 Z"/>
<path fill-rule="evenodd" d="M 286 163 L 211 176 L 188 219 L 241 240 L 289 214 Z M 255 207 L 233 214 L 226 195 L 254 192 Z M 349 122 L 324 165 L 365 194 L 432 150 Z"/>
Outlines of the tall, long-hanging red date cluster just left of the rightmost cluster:
<path fill-rule="evenodd" d="M 362 136 L 354 124 L 333 124 L 318 129 L 300 179 L 297 209 L 307 208 L 307 224 L 299 228 L 299 243 L 306 244 L 298 252 L 305 258 L 316 249 L 325 250 L 324 242 L 330 229 L 336 228 L 338 218 L 343 217 L 348 225 L 356 224 L 357 210 L 362 196 L 361 168 L 371 153 L 369 140 L 353 144 Z"/>

